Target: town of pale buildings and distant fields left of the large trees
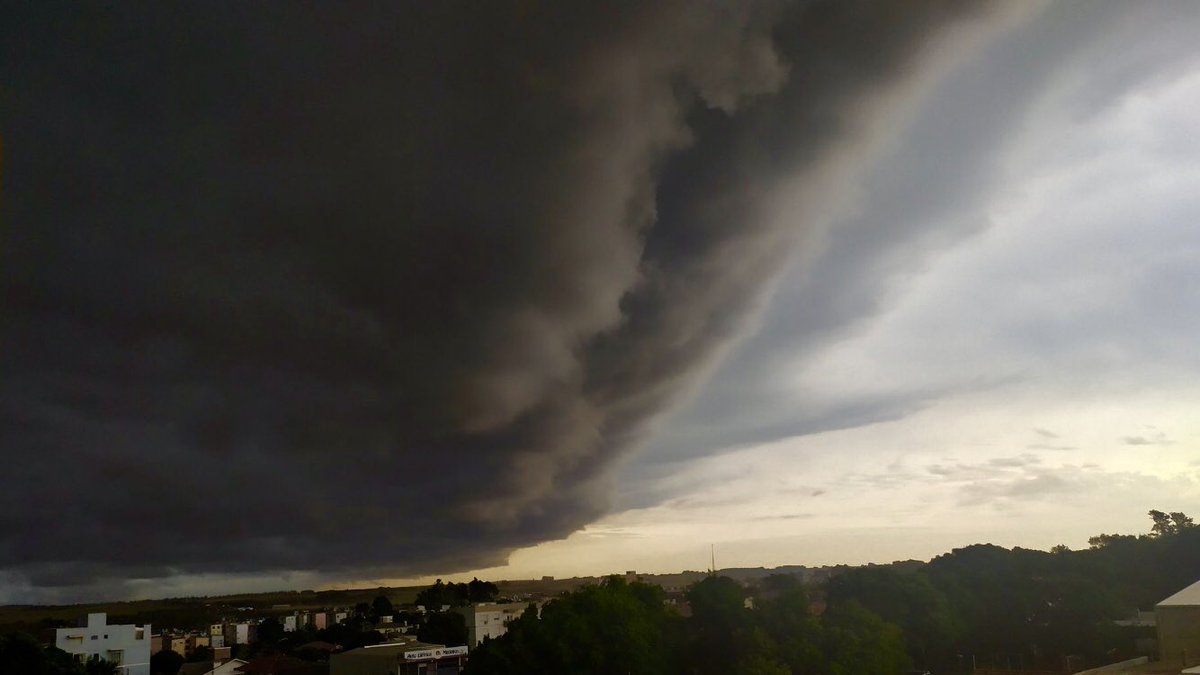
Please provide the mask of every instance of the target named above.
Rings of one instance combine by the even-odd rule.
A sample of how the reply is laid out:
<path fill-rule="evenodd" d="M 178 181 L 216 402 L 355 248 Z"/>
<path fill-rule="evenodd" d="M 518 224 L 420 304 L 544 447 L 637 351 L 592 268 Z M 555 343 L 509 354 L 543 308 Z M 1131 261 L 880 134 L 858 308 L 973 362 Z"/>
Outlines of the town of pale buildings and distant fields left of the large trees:
<path fill-rule="evenodd" d="M 745 584 L 772 574 L 788 574 L 816 584 L 841 568 L 786 566 L 730 568 L 719 573 Z M 625 571 L 620 577 L 659 585 L 666 595 L 665 602 L 685 611 L 688 587 L 709 574 Z M 43 643 L 53 643 L 77 663 L 86 667 L 90 662 L 107 662 L 124 675 L 157 675 L 172 668 L 180 675 L 241 675 L 262 673 L 266 664 L 271 673 L 296 675 L 376 671 L 371 667 L 358 668 L 359 662 L 388 663 L 386 673 L 396 673 L 396 668 L 400 673 L 457 673 L 470 649 L 503 635 L 509 622 L 530 605 L 540 608 L 563 593 L 602 579 L 542 577 L 496 584 L 476 579 L 466 584 L 438 581 L 430 587 L 8 607 L 0 608 L 0 628 L 37 632 Z M 437 604 L 424 604 L 428 602 Z M 71 621 L 64 619 L 71 613 L 80 615 L 77 625 L 68 626 Z M 451 614 L 454 617 L 448 621 Z M 157 617 L 166 625 L 120 623 L 142 616 Z M 428 628 L 431 623 L 440 625 L 440 631 Z M 455 644 L 422 641 L 419 639 L 422 629 L 427 635 L 436 634 Z M 322 637 L 343 638 L 346 644 Z M 354 649 L 358 643 L 376 639 L 377 644 Z M 256 657 L 263 643 L 269 643 L 271 653 Z M 278 647 L 290 653 L 281 653 Z M 151 663 L 152 655 L 162 655 L 158 669 Z"/>

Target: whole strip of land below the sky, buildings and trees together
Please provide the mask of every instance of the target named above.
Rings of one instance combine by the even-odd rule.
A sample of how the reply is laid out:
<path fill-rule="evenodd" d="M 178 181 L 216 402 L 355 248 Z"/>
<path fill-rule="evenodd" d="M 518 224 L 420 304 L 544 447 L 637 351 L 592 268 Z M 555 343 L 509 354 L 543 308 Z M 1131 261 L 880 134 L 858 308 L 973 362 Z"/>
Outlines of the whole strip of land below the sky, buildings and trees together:
<path fill-rule="evenodd" d="M 36 675 L 1200 673 L 1200 528 L 923 561 L 0 608 Z"/>

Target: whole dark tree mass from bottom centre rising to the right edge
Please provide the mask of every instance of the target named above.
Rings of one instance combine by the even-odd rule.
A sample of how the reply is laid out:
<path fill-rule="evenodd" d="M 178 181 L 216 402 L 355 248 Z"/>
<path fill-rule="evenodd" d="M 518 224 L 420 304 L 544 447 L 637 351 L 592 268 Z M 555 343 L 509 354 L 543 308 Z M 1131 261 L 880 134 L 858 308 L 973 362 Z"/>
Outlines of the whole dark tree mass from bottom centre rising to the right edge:
<path fill-rule="evenodd" d="M 816 587 L 709 577 L 688 591 L 686 616 L 658 586 L 610 578 L 527 610 L 473 651 L 468 673 L 1081 670 L 1136 656 L 1153 629 L 1115 620 L 1200 574 L 1200 528 L 1183 513 L 1150 516 L 1148 533 L 1100 534 L 1086 550 L 977 544 L 926 565 L 845 568 Z"/>

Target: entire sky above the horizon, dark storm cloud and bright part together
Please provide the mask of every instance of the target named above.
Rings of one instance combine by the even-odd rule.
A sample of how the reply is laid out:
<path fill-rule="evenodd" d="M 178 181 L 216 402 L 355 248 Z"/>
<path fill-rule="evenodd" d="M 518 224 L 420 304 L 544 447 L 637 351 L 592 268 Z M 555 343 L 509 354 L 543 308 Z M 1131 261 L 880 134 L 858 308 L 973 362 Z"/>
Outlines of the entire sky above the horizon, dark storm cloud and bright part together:
<path fill-rule="evenodd" d="M 1194 4 L 32 4 L 0 602 L 1200 512 Z"/>

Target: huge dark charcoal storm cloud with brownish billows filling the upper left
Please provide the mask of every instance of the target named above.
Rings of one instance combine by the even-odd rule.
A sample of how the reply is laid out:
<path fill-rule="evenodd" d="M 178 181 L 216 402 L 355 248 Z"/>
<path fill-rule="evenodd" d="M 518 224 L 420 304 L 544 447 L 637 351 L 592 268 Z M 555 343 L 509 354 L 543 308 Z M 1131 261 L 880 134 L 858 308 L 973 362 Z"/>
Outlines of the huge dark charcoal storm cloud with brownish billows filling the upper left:
<path fill-rule="evenodd" d="M 962 2 L 29 4 L 0 28 L 0 571 L 503 560 L 743 329 Z"/>

